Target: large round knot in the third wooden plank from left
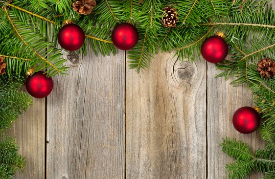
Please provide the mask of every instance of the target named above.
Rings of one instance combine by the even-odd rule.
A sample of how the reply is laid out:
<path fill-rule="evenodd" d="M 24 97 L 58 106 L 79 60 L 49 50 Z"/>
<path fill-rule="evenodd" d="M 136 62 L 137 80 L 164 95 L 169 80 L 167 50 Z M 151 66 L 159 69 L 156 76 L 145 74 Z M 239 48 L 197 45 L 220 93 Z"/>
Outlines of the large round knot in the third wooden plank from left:
<path fill-rule="evenodd" d="M 176 60 L 173 64 L 171 75 L 175 84 L 179 87 L 190 89 L 198 73 L 195 62 Z"/>

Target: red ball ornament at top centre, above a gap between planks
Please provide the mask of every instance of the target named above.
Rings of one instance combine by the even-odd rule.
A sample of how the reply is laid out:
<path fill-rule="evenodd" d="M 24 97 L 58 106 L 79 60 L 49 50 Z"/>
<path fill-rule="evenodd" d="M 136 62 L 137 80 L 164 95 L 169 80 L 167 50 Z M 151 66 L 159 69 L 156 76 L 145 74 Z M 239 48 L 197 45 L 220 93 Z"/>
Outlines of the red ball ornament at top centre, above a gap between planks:
<path fill-rule="evenodd" d="M 132 49 L 139 40 L 139 33 L 130 24 L 124 23 L 114 27 L 112 31 L 112 42 L 121 50 Z"/>

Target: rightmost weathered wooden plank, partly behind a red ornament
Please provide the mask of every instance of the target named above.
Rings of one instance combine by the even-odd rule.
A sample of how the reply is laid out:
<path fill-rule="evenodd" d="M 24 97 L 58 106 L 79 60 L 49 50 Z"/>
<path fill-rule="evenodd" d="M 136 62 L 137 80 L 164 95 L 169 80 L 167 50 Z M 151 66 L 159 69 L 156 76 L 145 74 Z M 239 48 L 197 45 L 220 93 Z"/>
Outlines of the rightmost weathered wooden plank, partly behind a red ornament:
<path fill-rule="evenodd" d="M 225 164 L 234 160 L 223 153 L 219 144 L 226 136 L 247 143 L 255 151 L 263 147 L 259 132 L 242 134 L 233 124 L 235 111 L 243 106 L 253 106 L 253 95 L 246 84 L 232 86 L 233 79 L 215 78 L 221 71 L 216 70 L 215 64 L 208 63 L 208 177 L 227 178 Z M 260 178 L 260 173 L 253 173 L 250 178 Z"/>

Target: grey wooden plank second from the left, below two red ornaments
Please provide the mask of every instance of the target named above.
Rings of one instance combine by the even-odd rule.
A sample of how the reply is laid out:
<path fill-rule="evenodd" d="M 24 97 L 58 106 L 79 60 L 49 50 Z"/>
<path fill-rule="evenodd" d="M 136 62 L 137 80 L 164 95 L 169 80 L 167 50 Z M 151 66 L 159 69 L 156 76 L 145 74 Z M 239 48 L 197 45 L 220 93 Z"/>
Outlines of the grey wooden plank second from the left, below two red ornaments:
<path fill-rule="evenodd" d="M 47 178 L 124 178 L 125 52 L 71 61 L 47 101 Z"/>

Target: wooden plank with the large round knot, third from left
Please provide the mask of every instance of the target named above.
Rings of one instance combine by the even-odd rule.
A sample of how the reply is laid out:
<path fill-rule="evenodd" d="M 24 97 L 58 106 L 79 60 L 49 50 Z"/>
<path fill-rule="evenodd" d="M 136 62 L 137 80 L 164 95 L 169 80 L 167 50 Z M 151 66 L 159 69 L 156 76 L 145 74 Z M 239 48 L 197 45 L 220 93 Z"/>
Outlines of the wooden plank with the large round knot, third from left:
<path fill-rule="evenodd" d="M 126 178 L 206 177 L 206 63 L 173 56 L 126 70 Z"/>

